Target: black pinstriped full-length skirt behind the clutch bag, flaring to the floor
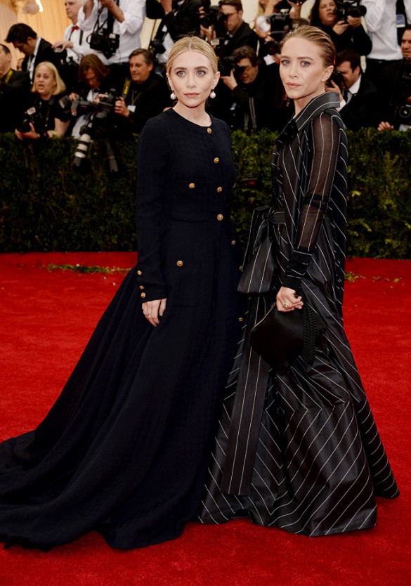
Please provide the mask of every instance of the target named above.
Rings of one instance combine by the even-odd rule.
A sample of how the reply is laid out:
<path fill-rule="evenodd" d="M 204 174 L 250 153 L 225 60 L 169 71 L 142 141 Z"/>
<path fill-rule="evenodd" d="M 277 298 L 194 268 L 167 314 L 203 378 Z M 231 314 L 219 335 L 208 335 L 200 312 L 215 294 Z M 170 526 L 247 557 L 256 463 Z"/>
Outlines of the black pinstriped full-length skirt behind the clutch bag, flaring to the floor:
<path fill-rule="evenodd" d="M 248 516 L 259 525 L 311 536 L 369 528 L 376 523 L 375 495 L 393 498 L 399 493 L 334 301 L 330 274 L 334 259 L 327 246 L 332 234 L 327 221 L 301 282 L 304 303 L 327 323 L 322 345 L 316 348 L 311 365 L 299 356 L 284 375 L 267 367 L 257 426 L 255 422 L 249 427 L 247 424 L 242 431 L 236 427 L 239 417 L 247 419 L 247 413 L 257 409 L 257 389 L 266 366 L 247 351 L 247 339 L 280 287 L 280 275 L 287 266 L 283 254 L 286 240 L 285 224 L 279 223 L 274 230 L 277 284 L 271 294 L 252 299 L 243 323 L 209 464 L 200 521 L 223 523 Z M 247 391 L 239 405 L 238 396 L 243 391 L 239 373 L 244 358 L 250 366 L 245 367 Z M 234 443 L 233 430 L 237 434 Z M 250 454 L 247 449 L 254 433 L 256 448 Z M 247 457 L 237 458 L 235 466 L 229 462 L 229 448 L 234 446 L 237 455 L 242 443 L 247 445 Z M 243 482 L 247 458 L 252 460 L 249 483 Z M 227 477 L 233 482 L 233 490 L 231 484 L 224 483 Z"/>

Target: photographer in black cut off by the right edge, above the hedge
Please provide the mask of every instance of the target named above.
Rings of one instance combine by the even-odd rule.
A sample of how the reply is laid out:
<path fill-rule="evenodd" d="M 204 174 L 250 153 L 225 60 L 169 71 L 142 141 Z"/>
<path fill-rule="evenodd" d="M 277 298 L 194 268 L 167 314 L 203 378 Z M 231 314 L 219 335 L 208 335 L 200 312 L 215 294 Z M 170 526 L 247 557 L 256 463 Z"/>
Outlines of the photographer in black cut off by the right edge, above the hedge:
<path fill-rule="evenodd" d="M 393 63 L 381 73 L 382 119 L 379 130 L 411 129 L 411 25 L 407 25 L 401 39 L 400 63 Z"/>

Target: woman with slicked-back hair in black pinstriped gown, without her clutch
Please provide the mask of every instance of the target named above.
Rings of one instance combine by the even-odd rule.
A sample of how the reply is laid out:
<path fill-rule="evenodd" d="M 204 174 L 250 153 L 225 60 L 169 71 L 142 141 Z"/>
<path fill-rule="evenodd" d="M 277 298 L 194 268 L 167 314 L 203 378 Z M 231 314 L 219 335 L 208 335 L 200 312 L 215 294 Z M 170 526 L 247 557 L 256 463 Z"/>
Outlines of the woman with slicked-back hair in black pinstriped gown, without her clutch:
<path fill-rule="evenodd" d="M 347 143 L 337 96 L 325 92 L 334 58 L 317 27 L 283 41 L 280 74 L 296 114 L 273 157 L 273 209 L 252 230 L 242 285 L 254 294 L 228 379 L 204 523 L 248 515 L 328 535 L 374 526 L 374 495 L 398 496 L 342 319 Z M 284 374 L 248 341 L 273 302 L 285 312 L 308 304 L 327 326 L 313 362 L 297 356 Z"/>

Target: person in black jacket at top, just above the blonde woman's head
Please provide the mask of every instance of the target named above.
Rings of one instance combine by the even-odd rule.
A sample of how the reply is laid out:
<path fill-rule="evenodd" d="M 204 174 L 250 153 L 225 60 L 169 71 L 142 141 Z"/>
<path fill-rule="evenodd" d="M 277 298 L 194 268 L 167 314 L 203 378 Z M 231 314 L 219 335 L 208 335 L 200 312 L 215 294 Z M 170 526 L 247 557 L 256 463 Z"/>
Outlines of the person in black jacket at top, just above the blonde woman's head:
<path fill-rule="evenodd" d="M 199 34 L 200 0 L 146 0 L 147 18 L 160 20 L 157 33 L 150 43 L 159 71 L 169 56 L 174 42 L 185 34 Z"/>

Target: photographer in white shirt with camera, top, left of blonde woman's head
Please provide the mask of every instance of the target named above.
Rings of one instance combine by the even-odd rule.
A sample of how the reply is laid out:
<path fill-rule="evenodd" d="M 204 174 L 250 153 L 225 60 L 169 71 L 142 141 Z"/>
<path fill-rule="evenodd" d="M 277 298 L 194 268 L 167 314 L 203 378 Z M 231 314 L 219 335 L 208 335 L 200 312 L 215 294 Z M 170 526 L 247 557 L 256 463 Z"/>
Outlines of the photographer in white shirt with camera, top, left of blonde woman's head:
<path fill-rule="evenodd" d="M 85 0 L 78 21 L 93 53 L 110 66 L 116 79 L 129 71 L 129 55 L 141 46 L 145 0 Z"/>

